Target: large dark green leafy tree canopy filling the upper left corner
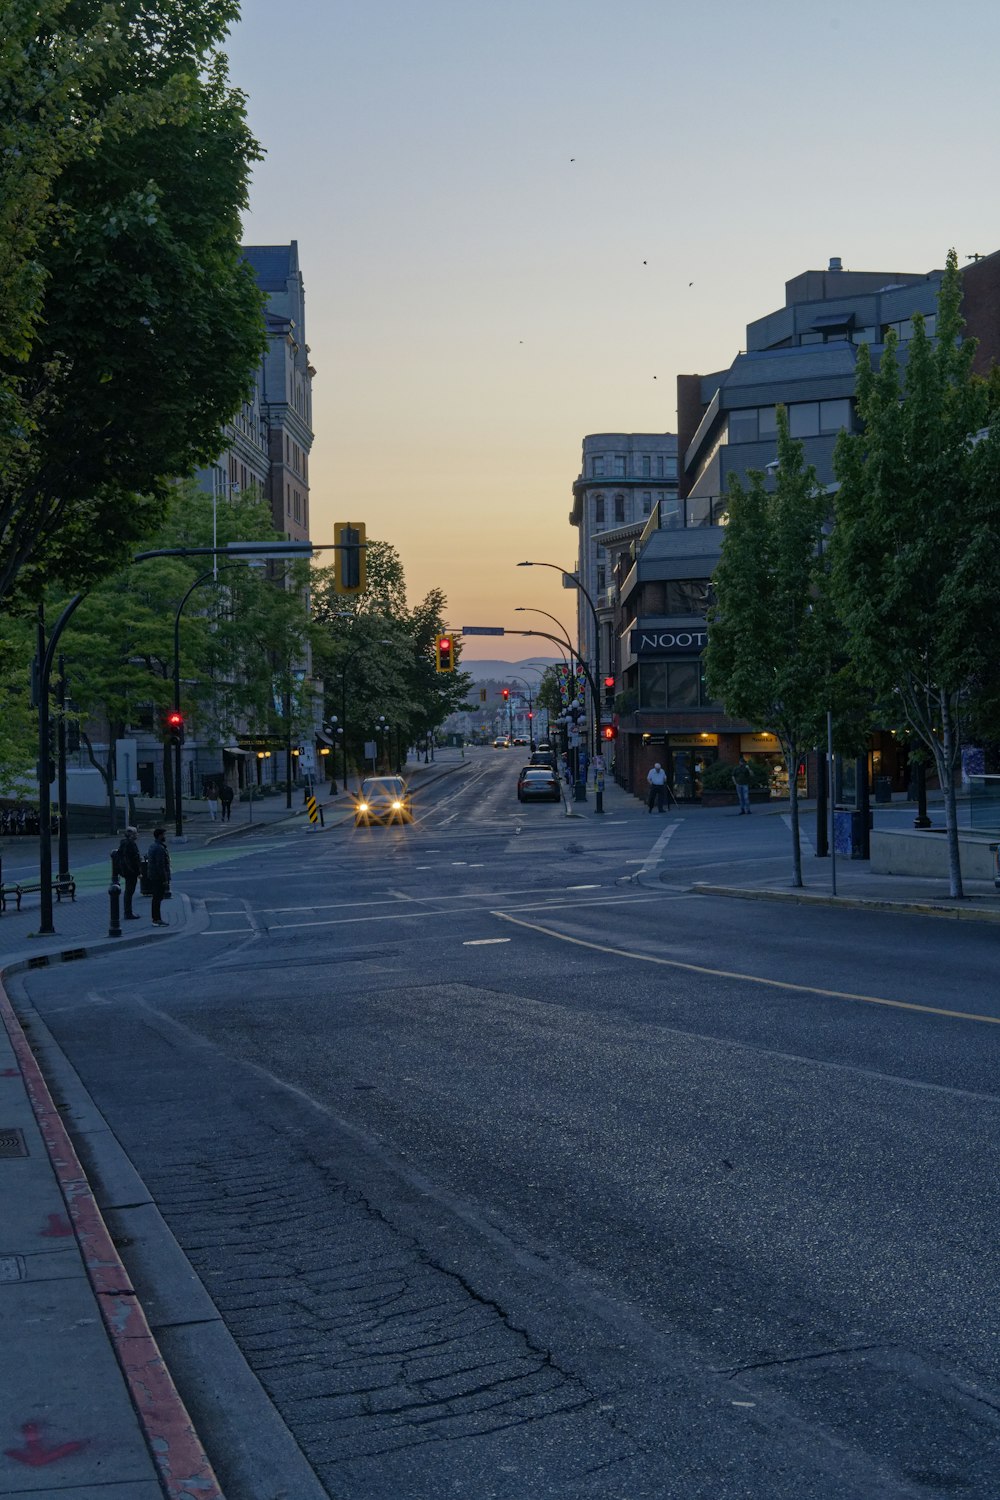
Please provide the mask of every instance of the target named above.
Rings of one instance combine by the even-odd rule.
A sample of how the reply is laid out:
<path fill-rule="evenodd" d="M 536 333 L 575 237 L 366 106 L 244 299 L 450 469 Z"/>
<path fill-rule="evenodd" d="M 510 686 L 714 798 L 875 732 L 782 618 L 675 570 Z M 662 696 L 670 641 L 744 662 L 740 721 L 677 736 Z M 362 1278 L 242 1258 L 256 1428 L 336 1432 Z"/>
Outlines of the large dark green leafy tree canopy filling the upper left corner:
<path fill-rule="evenodd" d="M 217 50 L 237 14 L 4 6 L 0 602 L 112 570 L 249 392 L 265 334 L 240 212 L 259 150 Z"/>

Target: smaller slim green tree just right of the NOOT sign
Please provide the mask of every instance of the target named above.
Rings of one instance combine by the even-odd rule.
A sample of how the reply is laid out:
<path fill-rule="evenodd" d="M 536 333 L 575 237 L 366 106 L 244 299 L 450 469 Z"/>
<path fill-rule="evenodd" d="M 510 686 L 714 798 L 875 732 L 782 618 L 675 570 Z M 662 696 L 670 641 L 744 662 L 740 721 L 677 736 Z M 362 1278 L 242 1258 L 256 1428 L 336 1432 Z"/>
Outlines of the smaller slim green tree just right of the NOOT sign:
<path fill-rule="evenodd" d="M 792 884 L 802 885 L 798 766 L 823 736 L 834 693 L 835 627 L 829 602 L 823 524 L 829 500 L 802 444 L 778 414 L 778 472 L 730 480 L 729 525 L 712 579 L 705 668 L 726 711 L 769 730 L 789 768 Z"/>

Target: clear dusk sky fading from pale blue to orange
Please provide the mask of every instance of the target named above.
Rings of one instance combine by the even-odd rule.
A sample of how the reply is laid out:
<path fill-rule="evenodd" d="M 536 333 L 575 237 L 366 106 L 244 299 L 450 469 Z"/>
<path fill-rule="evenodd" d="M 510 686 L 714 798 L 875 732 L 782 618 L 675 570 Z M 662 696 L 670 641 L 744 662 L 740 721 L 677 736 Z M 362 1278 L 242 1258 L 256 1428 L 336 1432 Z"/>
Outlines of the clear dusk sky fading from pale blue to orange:
<path fill-rule="evenodd" d="M 786 280 L 1000 248 L 993 0 L 244 0 L 226 52 L 244 238 L 298 242 L 312 537 L 364 520 L 451 628 L 574 630 L 517 562 L 576 566 L 583 436 L 676 430 Z"/>

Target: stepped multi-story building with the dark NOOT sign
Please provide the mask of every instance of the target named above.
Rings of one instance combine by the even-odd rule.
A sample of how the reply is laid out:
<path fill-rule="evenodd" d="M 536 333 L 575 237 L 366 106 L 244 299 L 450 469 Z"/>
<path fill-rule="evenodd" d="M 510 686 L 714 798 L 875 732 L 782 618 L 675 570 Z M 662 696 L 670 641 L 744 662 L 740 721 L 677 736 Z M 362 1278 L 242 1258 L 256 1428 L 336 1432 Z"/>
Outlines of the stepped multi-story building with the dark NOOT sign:
<path fill-rule="evenodd" d="M 717 756 L 736 760 L 741 750 L 766 759 L 781 782 L 777 741 L 711 704 L 700 670 L 729 478 L 748 470 L 768 476 L 781 404 L 805 462 L 834 489 L 837 434 L 855 426 L 861 345 L 877 366 L 892 328 L 904 363 L 913 315 L 922 314 L 934 332 L 942 274 L 849 272 L 831 260 L 825 272 L 787 282 L 784 306 L 748 326 L 729 369 L 678 378 L 678 498 L 666 524 L 661 512 L 639 538 L 619 538 L 627 543 L 615 604 L 618 702 L 625 710 L 616 770 L 624 784 L 642 790 L 646 771 L 661 760 L 676 795 L 696 796 L 697 766 Z M 967 333 L 979 340 L 976 368 L 985 370 L 1000 356 L 1000 254 L 975 260 L 963 278 Z M 612 538 L 603 542 L 607 549 Z M 906 754 L 889 734 L 873 738 L 870 774 L 904 784 Z"/>

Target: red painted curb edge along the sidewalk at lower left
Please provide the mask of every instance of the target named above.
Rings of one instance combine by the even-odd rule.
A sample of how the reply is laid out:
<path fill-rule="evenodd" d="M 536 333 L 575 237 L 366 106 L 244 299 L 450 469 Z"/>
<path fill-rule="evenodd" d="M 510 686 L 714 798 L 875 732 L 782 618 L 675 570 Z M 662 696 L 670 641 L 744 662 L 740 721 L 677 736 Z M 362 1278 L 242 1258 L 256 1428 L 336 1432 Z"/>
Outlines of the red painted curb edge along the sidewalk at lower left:
<path fill-rule="evenodd" d="M 0 984 L 0 1018 L 7 1029 L 42 1140 L 58 1179 L 97 1306 L 126 1378 L 132 1404 L 168 1500 L 225 1500 L 208 1456 L 177 1394 L 145 1322 L 129 1275 L 111 1244 L 42 1071 Z"/>

